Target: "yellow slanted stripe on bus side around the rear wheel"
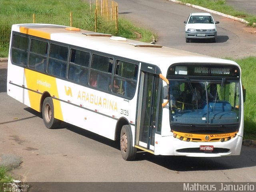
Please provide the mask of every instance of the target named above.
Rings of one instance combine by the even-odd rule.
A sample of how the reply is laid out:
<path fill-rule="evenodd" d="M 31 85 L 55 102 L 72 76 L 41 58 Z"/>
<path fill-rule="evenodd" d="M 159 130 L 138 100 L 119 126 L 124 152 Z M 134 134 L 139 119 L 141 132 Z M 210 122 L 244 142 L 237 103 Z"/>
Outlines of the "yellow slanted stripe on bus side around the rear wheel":
<path fill-rule="evenodd" d="M 41 74 L 29 69 L 25 70 L 26 84 L 27 88 L 44 93 L 48 92 L 51 96 L 55 98 L 59 98 L 58 88 L 56 83 L 56 78 L 52 76 L 48 76 L 45 74 Z M 38 94 L 37 92 L 28 91 L 28 97 L 30 101 L 30 107 L 34 110 L 40 111 L 40 100 L 42 94 Z M 59 120 L 63 119 L 63 114 L 60 106 L 60 101 L 53 99 L 54 104 L 54 117 Z"/>

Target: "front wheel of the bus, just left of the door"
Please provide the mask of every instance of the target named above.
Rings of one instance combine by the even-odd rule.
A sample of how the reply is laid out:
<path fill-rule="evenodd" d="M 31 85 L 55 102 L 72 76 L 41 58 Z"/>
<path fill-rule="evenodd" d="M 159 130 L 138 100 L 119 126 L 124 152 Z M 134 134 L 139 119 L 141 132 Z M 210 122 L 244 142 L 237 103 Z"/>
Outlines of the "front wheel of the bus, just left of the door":
<path fill-rule="evenodd" d="M 132 146 L 132 130 L 128 125 L 122 127 L 120 134 L 120 149 L 124 160 L 132 161 L 136 158 L 137 149 Z"/>

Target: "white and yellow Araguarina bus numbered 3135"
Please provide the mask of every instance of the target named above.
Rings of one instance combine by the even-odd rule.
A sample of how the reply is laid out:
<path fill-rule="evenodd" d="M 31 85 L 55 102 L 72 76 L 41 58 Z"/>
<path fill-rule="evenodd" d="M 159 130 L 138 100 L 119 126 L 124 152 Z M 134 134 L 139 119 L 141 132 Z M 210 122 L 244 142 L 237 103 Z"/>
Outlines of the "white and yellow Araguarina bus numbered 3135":
<path fill-rule="evenodd" d="M 52 24 L 14 24 L 7 93 L 111 140 L 122 157 L 239 155 L 241 68 L 231 60 Z"/>

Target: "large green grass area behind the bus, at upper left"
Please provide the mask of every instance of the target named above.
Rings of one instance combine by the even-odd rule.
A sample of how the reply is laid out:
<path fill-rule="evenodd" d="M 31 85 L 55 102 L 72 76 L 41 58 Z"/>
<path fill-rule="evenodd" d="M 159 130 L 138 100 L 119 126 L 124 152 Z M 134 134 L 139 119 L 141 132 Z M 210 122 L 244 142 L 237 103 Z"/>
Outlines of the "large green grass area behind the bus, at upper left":
<path fill-rule="evenodd" d="M 72 12 L 73 27 L 94 31 L 95 6 L 92 6 L 90 11 L 88 2 L 82 0 L 1 0 L 0 7 L 0 57 L 8 57 L 12 24 L 32 23 L 33 14 L 35 14 L 36 23 L 70 26 L 70 12 Z M 156 39 L 156 34 L 135 26 L 124 18 L 118 19 L 118 31 L 116 31 L 114 19 L 107 21 L 106 18 L 97 16 L 97 32 L 129 39 L 137 39 L 136 33 L 139 33 L 141 38 L 137 40 L 143 42 L 151 42 L 152 37 Z"/>

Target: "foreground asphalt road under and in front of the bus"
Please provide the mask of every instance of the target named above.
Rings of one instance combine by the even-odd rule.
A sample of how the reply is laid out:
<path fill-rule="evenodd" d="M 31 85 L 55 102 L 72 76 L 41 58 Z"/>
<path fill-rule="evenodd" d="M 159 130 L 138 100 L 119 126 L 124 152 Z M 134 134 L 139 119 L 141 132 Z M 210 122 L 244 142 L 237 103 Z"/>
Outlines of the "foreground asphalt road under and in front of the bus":
<path fill-rule="evenodd" d="M 118 142 L 69 124 L 49 130 L 38 112 L 0 98 L 0 152 L 22 157 L 12 173 L 27 182 L 256 182 L 256 148 L 221 158 L 138 152 L 127 162 Z"/>

